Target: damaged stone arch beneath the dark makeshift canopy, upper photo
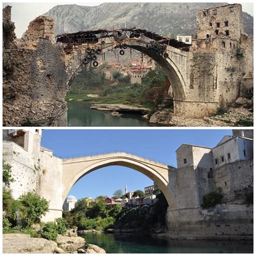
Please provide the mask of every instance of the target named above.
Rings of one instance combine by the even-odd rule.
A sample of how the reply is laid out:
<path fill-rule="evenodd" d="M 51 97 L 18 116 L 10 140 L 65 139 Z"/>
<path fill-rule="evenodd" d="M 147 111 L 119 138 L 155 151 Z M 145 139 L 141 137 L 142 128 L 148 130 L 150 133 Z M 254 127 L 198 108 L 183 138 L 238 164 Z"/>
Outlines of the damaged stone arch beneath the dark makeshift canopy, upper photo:
<path fill-rule="evenodd" d="M 104 39 L 104 45 L 102 41 Z M 68 88 L 72 84 L 72 81 L 76 78 L 80 70 L 83 69 L 84 64 L 82 62 L 86 55 L 86 48 L 101 48 L 102 53 L 111 51 L 118 48 L 122 43 L 126 43 L 131 49 L 145 53 L 157 62 L 161 68 L 165 71 L 167 78 L 170 81 L 170 86 L 173 90 L 174 100 L 183 101 L 186 98 L 186 84 L 187 82 L 187 69 L 186 62 L 188 52 L 174 48 L 171 45 L 165 44 L 166 53 L 168 57 L 164 58 L 159 53 L 150 49 L 146 49 L 146 44 L 152 42 L 152 39 L 144 35 L 140 35 L 138 38 L 123 38 L 118 41 L 116 38 L 100 38 L 96 42 L 84 43 L 76 46 L 70 44 L 64 44 L 64 50 L 66 49 L 66 71 L 68 72 Z M 72 52 L 72 54 L 71 54 Z M 75 52 L 75 54 L 73 54 Z"/>

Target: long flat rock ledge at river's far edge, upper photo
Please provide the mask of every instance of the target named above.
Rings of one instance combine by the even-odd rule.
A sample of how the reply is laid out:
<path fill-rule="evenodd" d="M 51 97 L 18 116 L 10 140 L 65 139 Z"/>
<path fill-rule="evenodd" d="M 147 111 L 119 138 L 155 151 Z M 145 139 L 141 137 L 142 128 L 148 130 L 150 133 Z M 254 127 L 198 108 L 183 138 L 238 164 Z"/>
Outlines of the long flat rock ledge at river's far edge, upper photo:
<path fill-rule="evenodd" d="M 145 107 L 128 106 L 124 104 L 93 104 L 91 105 L 91 109 L 108 112 L 136 112 L 142 114 L 146 114 L 151 111 Z"/>

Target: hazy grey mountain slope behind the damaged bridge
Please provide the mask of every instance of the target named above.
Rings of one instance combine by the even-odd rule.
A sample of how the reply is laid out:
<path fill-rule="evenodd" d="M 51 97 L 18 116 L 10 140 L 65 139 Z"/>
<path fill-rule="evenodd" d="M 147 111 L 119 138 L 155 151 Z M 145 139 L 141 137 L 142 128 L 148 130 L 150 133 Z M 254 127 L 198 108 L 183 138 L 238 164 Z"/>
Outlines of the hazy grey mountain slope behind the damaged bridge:
<path fill-rule="evenodd" d="M 55 19 L 56 35 L 89 29 L 136 26 L 162 35 L 197 32 L 197 10 L 225 3 L 103 3 L 97 6 L 56 5 L 45 13 Z M 246 12 L 245 32 L 253 35 L 253 17 Z"/>

